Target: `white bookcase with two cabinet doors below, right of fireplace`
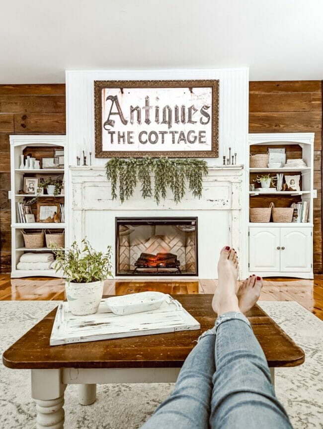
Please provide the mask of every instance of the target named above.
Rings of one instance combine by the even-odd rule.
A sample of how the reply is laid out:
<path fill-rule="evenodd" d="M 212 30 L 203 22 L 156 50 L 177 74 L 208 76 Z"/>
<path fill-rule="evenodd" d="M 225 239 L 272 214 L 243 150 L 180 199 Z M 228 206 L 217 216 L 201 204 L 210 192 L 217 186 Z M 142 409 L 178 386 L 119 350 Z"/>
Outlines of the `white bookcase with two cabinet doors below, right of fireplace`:
<path fill-rule="evenodd" d="M 313 278 L 313 199 L 317 197 L 314 189 L 314 133 L 259 133 L 249 134 L 250 146 L 253 153 L 256 146 L 286 147 L 298 145 L 302 158 L 307 167 L 301 168 L 249 168 L 249 157 L 246 162 L 247 177 L 247 225 L 248 225 L 248 275 L 257 273 L 263 277 L 288 276 Z M 259 148 L 260 149 L 260 148 Z M 263 150 L 263 148 L 262 148 Z M 288 159 L 288 158 L 287 158 Z M 299 173 L 302 178 L 300 191 L 249 191 L 251 173 Z M 263 206 L 261 197 L 266 197 Z M 299 197 L 301 201 L 309 202 L 309 216 L 303 223 L 254 223 L 249 220 L 249 207 L 252 198 L 258 198 L 258 207 L 268 206 L 268 197 L 279 198 L 284 207 L 290 206 L 287 197 Z M 284 204 L 286 197 L 286 204 Z M 276 200 L 277 201 L 277 200 Z M 274 202 L 274 201 L 273 201 Z"/>

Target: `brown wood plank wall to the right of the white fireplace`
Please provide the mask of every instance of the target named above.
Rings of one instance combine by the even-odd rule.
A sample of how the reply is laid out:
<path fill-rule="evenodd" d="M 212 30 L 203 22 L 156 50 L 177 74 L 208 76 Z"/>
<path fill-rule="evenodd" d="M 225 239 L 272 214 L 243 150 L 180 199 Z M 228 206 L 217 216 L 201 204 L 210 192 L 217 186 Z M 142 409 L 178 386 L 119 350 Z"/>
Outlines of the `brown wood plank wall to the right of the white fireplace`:
<path fill-rule="evenodd" d="M 250 82 L 249 132 L 314 132 L 314 272 L 322 272 L 322 82 Z"/>

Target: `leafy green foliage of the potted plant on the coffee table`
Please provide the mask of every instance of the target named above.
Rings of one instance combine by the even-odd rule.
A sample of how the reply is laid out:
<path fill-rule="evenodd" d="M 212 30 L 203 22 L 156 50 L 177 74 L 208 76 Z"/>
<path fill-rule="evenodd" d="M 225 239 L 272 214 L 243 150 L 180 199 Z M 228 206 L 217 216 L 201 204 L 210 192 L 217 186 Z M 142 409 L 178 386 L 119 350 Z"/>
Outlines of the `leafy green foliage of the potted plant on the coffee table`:
<path fill-rule="evenodd" d="M 73 283 L 90 283 L 112 277 L 111 246 L 103 253 L 93 250 L 86 238 L 81 243 L 82 249 L 76 242 L 70 249 L 57 248 L 52 244 L 56 272 L 62 270 L 66 280 Z"/>

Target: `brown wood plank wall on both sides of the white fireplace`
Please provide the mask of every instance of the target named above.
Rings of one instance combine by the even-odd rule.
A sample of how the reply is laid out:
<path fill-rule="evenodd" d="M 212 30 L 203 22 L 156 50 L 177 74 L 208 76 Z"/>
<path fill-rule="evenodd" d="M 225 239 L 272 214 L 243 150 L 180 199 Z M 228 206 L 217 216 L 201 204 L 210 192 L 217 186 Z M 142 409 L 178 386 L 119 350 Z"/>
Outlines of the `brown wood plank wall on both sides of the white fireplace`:
<path fill-rule="evenodd" d="M 322 82 L 250 82 L 249 131 L 315 132 L 314 268 L 322 272 Z M 65 85 L 0 85 L 0 271 L 10 271 L 9 134 L 65 134 Z"/>

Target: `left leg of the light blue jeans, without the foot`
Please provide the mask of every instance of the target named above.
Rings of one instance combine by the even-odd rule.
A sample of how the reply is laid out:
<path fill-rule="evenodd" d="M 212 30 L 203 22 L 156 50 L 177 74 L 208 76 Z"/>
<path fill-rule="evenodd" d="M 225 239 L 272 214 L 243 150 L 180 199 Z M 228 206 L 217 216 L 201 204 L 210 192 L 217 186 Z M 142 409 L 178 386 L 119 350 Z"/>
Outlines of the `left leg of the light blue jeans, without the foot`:
<path fill-rule="evenodd" d="M 210 334 L 210 335 L 208 335 Z M 207 429 L 209 427 L 215 335 L 206 331 L 187 356 L 171 395 L 142 429 Z"/>

